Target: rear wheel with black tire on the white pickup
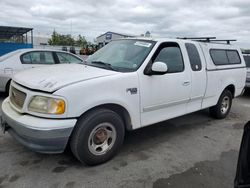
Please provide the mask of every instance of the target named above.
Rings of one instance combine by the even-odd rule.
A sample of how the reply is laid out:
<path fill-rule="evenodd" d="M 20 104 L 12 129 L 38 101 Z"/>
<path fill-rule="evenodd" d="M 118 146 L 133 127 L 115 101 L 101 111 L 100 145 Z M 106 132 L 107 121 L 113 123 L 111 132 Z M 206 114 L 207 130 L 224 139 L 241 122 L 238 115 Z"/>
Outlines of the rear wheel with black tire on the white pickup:
<path fill-rule="evenodd" d="M 232 93 L 229 90 L 223 91 L 218 103 L 209 109 L 211 116 L 216 119 L 224 119 L 230 112 L 232 100 Z"/>

